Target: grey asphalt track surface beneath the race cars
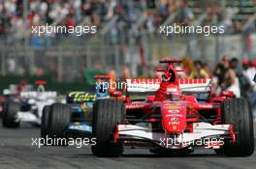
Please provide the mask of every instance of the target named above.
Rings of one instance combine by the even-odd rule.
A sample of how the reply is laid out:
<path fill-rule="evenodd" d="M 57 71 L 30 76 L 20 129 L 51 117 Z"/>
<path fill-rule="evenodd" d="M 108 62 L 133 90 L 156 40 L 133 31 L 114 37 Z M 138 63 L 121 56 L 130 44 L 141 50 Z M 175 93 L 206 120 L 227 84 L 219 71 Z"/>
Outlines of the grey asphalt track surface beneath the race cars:
<path fill-rule="evenodd" d="M 254 131 L 256 131 L 254 124 Z M 256 168 L 256 154 L 248 157 L 215 155 L 211 150 L 196 150 L 187 156 L 159 156 L 148 150 L 126 149 L 119 158 L 96 157 L 90 147 L 31 146 L 40 129 L 23 126 L 18 129 L 0 127 L 0 169 L 83 168 L 83 169 L 141 169 L 141 168 Z"/>

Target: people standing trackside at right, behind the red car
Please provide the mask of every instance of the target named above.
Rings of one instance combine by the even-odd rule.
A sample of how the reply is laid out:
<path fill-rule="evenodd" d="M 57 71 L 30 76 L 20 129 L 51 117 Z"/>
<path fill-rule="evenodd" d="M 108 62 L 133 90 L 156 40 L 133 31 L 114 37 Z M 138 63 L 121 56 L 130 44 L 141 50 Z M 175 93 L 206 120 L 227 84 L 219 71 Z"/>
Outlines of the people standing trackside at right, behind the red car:
<path fill-rule="evenodd" d="M 187 78 L 211 78 L 216 94 L 227 90 L 233 91 L 234 95 L 240 98 L 250 97 L 251 93 L 256 92 L 256 83 L 253 81 L 256 60 L 245 58 L 240 61 L 224 55 L 214 70 L 210 71 L 208 64 L 184 58 L 183 67 Z"/>

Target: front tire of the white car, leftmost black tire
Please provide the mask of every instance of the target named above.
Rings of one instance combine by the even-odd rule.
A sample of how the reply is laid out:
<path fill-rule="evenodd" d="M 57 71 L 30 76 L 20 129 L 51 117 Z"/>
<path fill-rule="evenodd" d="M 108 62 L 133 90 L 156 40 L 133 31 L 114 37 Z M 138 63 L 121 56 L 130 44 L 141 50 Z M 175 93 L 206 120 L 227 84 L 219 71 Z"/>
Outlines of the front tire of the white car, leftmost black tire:
<path fill-rule="evenodd" d="M 3 127 L 19 127 L 19 122 L 16 121 L 16 115 L 20 105 L 18 102 L 8 102 L 5 104 L 2 124 Z"/>

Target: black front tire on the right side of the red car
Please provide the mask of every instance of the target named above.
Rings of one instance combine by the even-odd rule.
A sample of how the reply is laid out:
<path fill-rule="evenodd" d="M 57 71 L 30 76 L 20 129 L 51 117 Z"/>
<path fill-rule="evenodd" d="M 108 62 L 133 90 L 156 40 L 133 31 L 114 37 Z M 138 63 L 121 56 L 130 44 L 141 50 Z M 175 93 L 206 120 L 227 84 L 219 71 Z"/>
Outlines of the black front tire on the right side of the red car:
<path fill-rule="evenodd" d="M 251 106 L 247 99 L 226 99 L 222 104 L 225 124 L 232 124 L 236 143 L 225 142 L 224 155 L 248 156 L 254 152 L 254 133 Z"/>

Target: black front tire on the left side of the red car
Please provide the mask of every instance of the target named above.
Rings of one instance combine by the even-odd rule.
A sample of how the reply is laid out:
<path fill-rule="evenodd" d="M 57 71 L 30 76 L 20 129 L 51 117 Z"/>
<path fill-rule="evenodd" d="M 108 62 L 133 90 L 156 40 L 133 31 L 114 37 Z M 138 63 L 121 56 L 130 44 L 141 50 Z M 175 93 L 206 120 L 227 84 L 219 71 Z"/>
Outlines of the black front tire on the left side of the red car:
<path fill-rule="evenodd" d="M 123 142 L 113 142 L 116 125 L 124 124 L 123 101 L 99 99 L 93 106 L 92 137 L 96 144 L 91 146 L 93 155 L 117 157 L 123 153 Z"/>

